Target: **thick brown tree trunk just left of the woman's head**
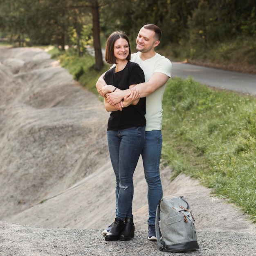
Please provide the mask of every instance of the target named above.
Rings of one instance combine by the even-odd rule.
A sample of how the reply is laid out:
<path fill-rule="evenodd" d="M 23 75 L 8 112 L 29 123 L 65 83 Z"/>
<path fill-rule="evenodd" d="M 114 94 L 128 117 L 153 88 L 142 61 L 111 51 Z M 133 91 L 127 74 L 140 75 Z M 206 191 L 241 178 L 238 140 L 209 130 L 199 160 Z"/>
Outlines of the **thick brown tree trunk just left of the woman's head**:
<path fill-rule="evenodd" d="M 94 69 L 101 70 L 103 67 L 103 59 L 101 52 L 100 31 L 99 31 L 99 5 L 98 1 L 92 3 L 92 34 L 93 46 L 95 51 L 95 66 Z"/>

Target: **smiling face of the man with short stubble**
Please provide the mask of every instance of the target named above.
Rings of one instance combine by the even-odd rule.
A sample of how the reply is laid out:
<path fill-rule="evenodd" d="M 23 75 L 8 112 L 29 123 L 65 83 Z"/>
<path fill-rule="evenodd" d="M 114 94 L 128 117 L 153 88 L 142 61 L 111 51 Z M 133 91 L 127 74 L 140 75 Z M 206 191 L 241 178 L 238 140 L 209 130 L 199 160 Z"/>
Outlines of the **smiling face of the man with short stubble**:
<path fill-rule="evenodd" d="M 155 39 L 155 32 L 142 27 L 136 39 L 136 49 L 139 52 L 150 52 L 155 46 L 157 40 Z"/>

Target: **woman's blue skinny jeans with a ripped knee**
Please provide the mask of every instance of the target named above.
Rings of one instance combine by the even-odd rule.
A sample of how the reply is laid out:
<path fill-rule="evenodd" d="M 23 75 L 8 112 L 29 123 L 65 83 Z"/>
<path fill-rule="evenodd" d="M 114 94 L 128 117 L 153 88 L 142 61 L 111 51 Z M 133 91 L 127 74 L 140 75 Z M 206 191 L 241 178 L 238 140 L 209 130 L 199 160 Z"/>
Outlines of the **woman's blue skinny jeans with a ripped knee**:
<path fill-rule="evenodd" d="M 132 176 L 144 146 L 145 127 L 108 130 L 108 150 L 116 176 L 116 218 L 132 218 Z"/>

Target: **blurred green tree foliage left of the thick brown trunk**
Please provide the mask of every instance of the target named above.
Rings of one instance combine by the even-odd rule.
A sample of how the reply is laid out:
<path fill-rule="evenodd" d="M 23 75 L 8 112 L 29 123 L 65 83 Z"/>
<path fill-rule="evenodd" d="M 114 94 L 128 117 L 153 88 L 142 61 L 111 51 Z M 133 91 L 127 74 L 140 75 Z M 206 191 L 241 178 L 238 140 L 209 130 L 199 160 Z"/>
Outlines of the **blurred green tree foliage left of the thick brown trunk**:
<path fill-rule="evenodd" d="M 0 6 L 0 31 L 8 31 L 10 40 L 12 37 L 15 40 L 27 37 L 34 45 L 52 43 L 64 49 L 65 45 L 73 43 L 74 31 L 76 39 L 83 41 L 83 25 L 89 23 L 90 27 L 92 24 L 92 18 L 88 15 L 90 1 L 2 0 Z M 80 45 L 77 40 L 75 45 Z"/>

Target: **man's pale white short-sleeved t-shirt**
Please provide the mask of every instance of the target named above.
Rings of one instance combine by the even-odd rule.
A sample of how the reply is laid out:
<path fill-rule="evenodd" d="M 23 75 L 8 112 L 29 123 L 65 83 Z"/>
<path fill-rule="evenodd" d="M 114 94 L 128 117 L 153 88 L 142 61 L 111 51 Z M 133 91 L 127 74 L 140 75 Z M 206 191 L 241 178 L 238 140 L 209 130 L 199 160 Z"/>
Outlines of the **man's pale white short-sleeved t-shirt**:
<path fill-rule="evenodd" d="M 172 64 L 168 58 L 155 54 L 150 59 L 141 60 L 140 52 L 132 54 L 130 61 L 138 63 L 145 74 L 145 82 L 147 82 L 154 72 L 160 72 L 171 77 Z M 166 84 L 155 90 L 146 97 L 146 131 L 162 129 L 162 99 Z"/>

